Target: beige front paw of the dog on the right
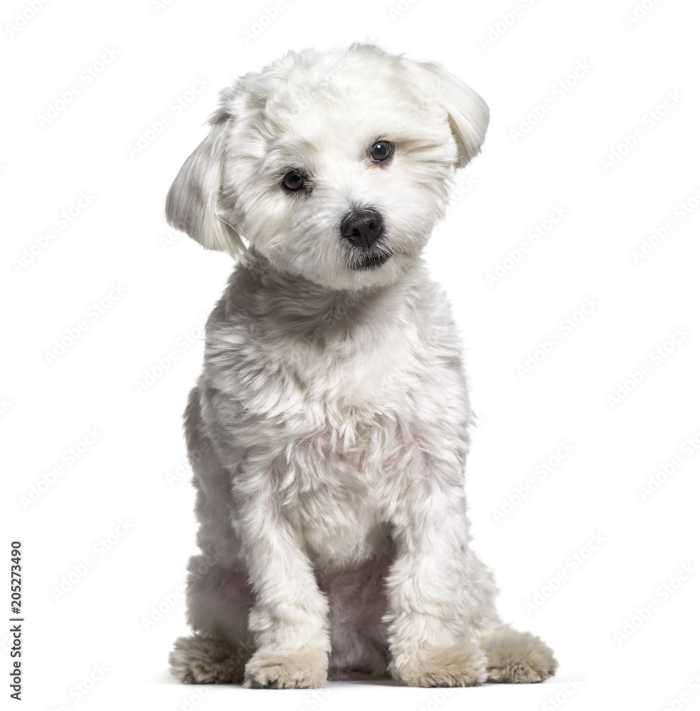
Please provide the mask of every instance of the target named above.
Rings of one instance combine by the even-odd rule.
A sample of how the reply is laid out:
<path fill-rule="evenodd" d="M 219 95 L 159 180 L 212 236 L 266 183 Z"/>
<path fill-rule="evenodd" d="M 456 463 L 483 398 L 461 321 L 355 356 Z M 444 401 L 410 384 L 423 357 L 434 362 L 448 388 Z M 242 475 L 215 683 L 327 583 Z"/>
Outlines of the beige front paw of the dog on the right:
<path fill-rule="evenodd" d="M 486 656 L 475 644 L 422 648 L 397 656 L 391 675 L 408 686 L 477 686 L 486 681 Z"/>

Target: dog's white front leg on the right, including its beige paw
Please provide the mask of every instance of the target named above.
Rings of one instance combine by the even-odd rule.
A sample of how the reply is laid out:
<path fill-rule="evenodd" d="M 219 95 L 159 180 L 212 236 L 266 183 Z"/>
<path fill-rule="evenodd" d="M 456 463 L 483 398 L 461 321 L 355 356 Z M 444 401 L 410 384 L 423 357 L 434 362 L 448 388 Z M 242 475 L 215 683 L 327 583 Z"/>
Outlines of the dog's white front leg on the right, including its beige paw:
<path fill-rule="evenodd" d="M 391 674 L 410 686 L 477 685 L 487 678 L 486 658 L 469 629 L 470 536 L 461 477 L 445 481 L 425 461 L 411 474 L 392 517 Z"/>

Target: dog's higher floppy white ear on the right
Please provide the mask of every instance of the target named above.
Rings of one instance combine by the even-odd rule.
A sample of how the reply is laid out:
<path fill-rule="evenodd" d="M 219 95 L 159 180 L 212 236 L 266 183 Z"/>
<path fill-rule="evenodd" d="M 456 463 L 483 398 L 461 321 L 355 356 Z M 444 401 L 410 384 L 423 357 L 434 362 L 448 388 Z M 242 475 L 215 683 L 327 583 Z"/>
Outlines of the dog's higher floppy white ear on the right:
<path fill-rule="evenodd" d="M 481 150 L 489 125 L 487 103 L 461 79 L 437 62 L 405 60 L 413 77 L 450 119 L 459 154 L 455 168 L 464 168 Z"/>

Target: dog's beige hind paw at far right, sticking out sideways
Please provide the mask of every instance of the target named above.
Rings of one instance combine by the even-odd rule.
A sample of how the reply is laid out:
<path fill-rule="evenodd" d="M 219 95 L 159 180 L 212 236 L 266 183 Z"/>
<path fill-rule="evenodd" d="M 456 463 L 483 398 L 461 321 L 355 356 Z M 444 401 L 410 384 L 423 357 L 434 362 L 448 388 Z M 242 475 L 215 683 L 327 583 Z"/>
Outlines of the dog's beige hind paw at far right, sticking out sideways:
<path fill-rule="evenodd" d="M 551 649 L 529 632 L 502 629 L 484 642 L 489 681 L 531 684 L 553 676 L 557 661 Z"/>

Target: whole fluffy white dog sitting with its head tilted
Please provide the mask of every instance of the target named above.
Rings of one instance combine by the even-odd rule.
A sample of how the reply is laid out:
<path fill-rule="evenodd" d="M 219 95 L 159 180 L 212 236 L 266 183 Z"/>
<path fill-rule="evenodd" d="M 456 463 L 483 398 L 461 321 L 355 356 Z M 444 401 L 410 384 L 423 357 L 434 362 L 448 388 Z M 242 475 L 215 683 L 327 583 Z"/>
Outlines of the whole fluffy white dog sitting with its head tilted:
<path fill-rule="evenodd" d="M 202 555 L 181 681 L 554 673 L 470 550 L 461 346 L 421 257 L 488 118 L 442 66 L 364 44 L 288 53 L 221 92 L 166 203 L 239 257 L 185 413 Z"/>

